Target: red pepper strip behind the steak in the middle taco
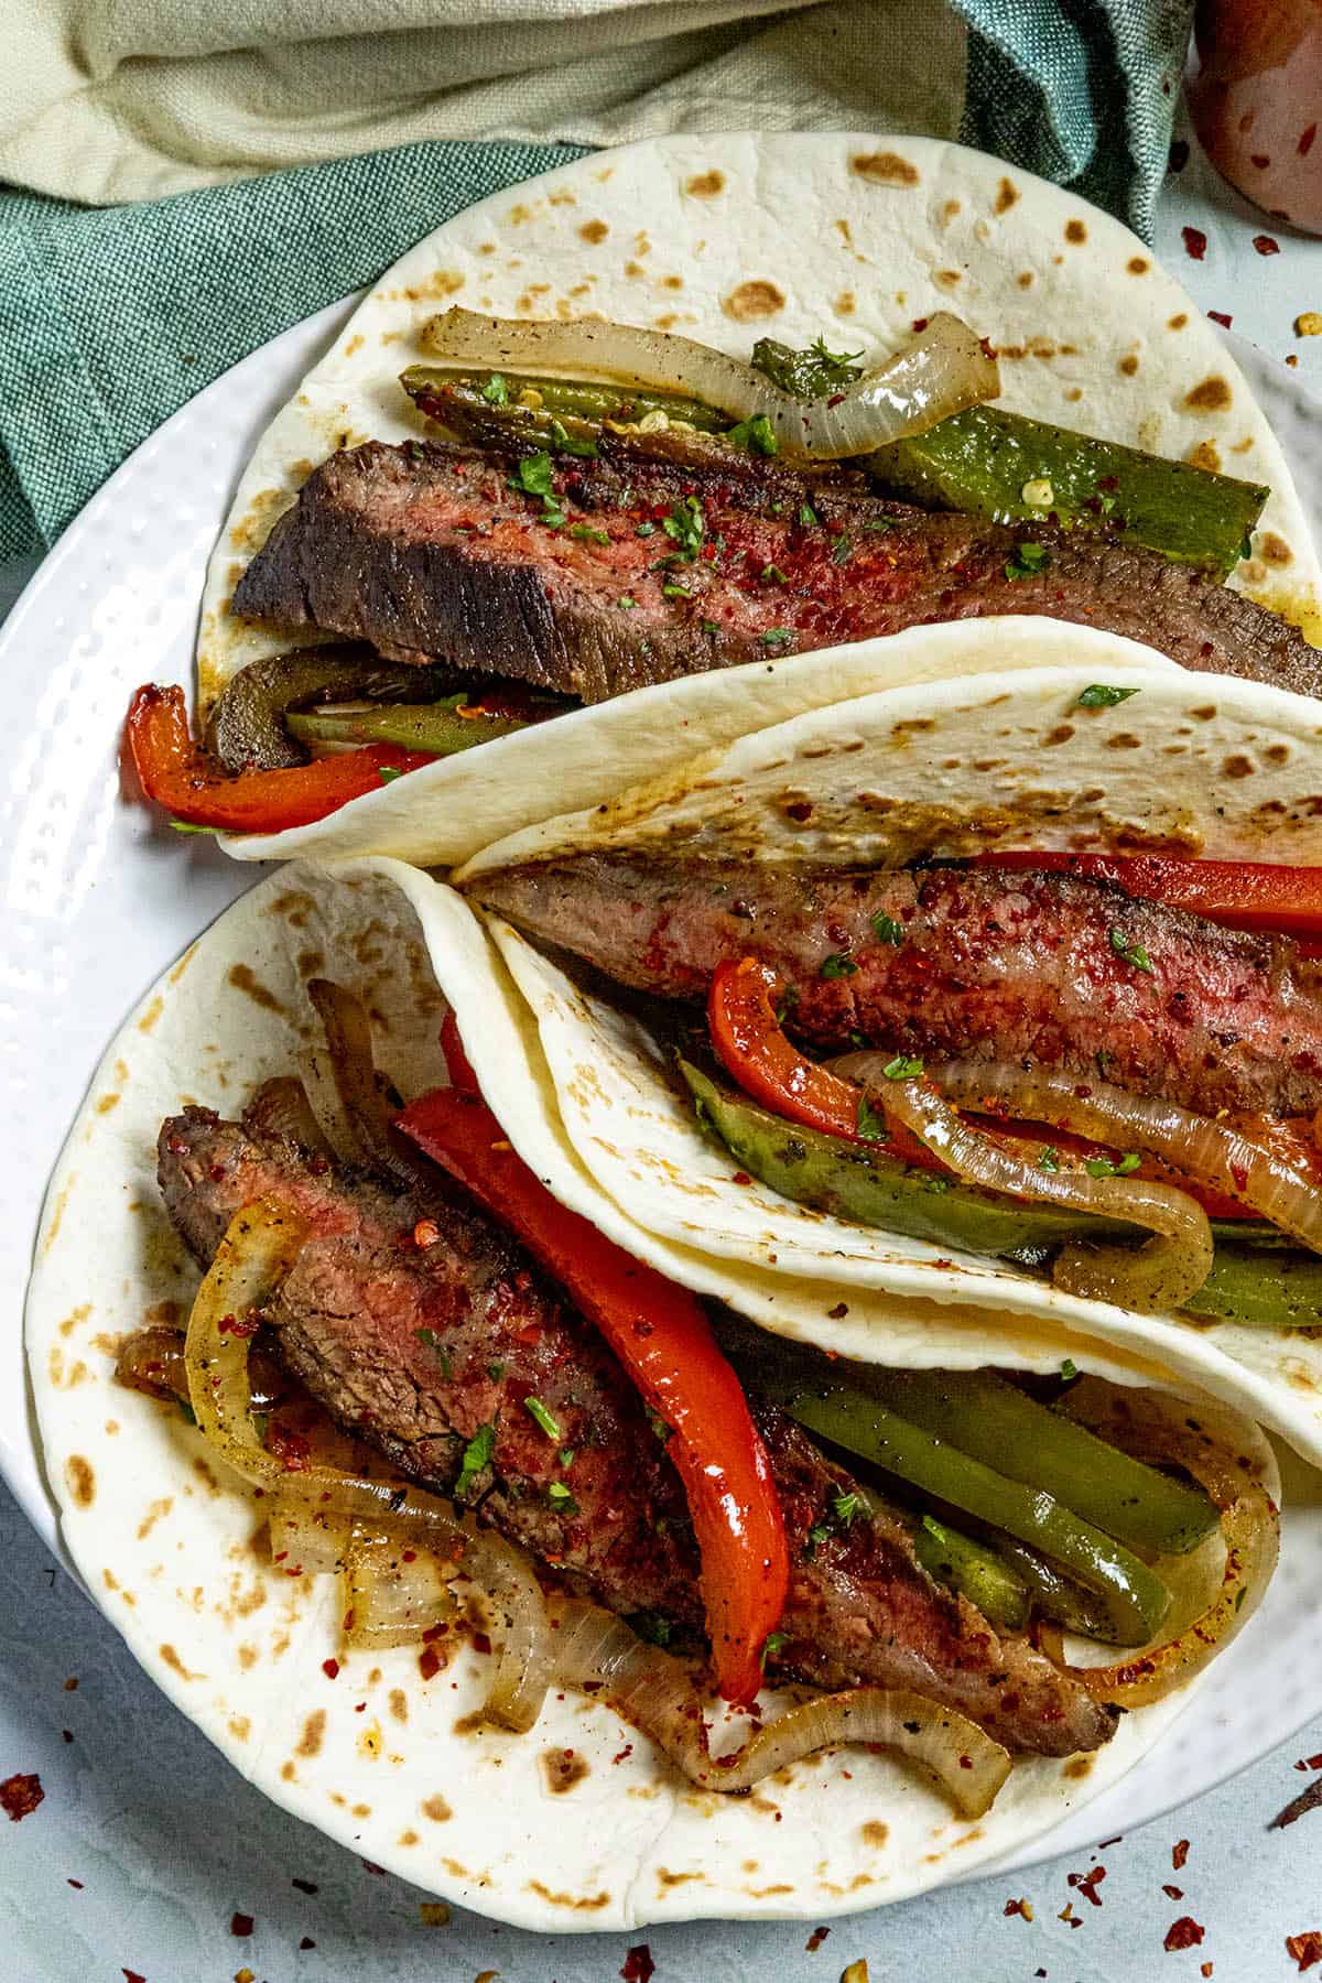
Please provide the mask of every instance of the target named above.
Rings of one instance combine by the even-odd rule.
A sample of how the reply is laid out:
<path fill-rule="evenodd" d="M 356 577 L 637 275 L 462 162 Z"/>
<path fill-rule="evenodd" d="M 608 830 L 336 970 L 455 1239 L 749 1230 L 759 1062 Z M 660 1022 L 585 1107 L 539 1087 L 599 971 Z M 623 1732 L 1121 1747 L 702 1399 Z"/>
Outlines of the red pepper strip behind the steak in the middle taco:
<path fill-rule="evenodd" d="M 1322 936 L 1322 869 L 1268 861 L 1175 861 L 1165 855 L 977 855 L 977 867 L 1039 869 L 1112 880 L 1126 894 L 1187 908 L 1233 930 Z"/>

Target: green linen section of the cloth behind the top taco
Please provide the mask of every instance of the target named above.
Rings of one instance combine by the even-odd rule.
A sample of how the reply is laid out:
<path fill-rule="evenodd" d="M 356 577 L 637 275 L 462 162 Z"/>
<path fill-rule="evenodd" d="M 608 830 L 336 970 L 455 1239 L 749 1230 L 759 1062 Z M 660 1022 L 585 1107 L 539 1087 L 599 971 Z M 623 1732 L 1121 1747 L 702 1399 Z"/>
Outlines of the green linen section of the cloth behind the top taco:
<path fill-rule="evenodd" d="M 543 12 L 555 4 L 543 0 Z M 912 73 L 878 61 L 850 95 L 842 83 L 834 97 L 819 89 L 801 121 L 957 131 L 1150 234 L 1189 12 L 1191 0 L 955 0 L 967 73 L 953 67 L 941 103 L 930 63 L 959 24 L 918 8 L 926 103 Z M 777 36 L 791 34 L 805 63 L 821 50 L 819 79 L 834 75 L 836 18 L 834 6 L 803 8 L 757 46 L 783 65 Z M 769 89 L 763 119 L 751 87 L 694 123 L 793 127 L 793 101 Z M 618 107 L 616 125 L 634 135 Z M 371 282 L 460 208 L 585 149 L 428 141 L 252 178 L 228 169 L 220 184 L 101 208 L 0 188 L 0 557 L 54 543 L 161 420 L 268 337 Z"/>

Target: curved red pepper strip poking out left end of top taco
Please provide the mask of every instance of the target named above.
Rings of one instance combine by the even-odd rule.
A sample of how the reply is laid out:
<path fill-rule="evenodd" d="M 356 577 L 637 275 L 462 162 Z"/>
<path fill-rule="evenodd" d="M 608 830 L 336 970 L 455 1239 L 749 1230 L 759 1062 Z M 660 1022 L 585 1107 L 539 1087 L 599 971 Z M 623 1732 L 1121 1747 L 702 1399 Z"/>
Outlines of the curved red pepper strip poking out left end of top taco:
<path fill-rule="evenodd" d="M 174 819 L 224 833 L 279 833 L 325 819 L 349 799 L 381 789 L 383 771 L 436 763 L 398 744 L 369 744 L 287 771 L 220 771 L 192 742 L 182 688 L 135 690 L 125 736 L 143 791 Z"/>

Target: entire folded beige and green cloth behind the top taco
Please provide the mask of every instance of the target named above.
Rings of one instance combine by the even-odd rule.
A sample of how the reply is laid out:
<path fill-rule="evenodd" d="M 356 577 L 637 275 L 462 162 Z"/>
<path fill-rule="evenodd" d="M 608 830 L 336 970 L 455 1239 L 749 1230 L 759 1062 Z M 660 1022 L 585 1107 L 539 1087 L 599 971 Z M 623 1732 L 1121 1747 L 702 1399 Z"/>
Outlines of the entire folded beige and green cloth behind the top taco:
<path fill-rule="evenodd" d="M 773 8 L 32 0 L 0 67 L 0 176 L 26 188 L 0 190 L 0 555 L 54 541 L 256 345 L 591 145 L 961 137 L 1150 232 L 1191 0 Z"/>

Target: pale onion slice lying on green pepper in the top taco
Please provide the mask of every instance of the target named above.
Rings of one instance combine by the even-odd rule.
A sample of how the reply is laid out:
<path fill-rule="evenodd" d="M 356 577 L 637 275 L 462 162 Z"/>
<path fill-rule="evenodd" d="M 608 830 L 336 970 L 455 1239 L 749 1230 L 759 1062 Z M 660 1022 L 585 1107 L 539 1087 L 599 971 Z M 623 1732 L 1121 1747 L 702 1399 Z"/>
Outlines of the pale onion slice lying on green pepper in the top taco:
<path fill-rule="evenodd" d="M 967 323 L 937 311 L 904 351 L 844 391 L 799 401 L 753 365 L 692 337 L 603 317 L 527 323 L 446 309 L 430 317 L 422 343 L 454 365 L 507 367 L 555 377 L 608 379 L 622 387 L 684 393 L 735 420 L 759 414 L 787 454 L 844 460 L 906 434 L 922 434 L 1001 391 L 997 361 Z"/>

